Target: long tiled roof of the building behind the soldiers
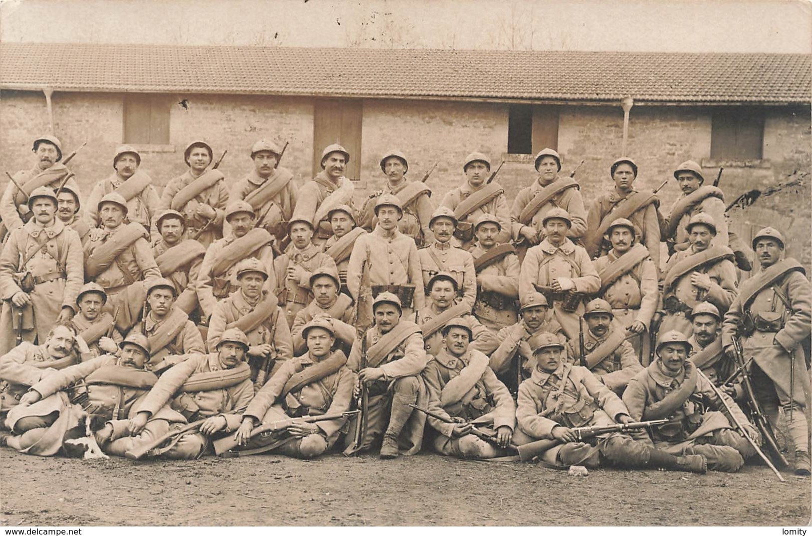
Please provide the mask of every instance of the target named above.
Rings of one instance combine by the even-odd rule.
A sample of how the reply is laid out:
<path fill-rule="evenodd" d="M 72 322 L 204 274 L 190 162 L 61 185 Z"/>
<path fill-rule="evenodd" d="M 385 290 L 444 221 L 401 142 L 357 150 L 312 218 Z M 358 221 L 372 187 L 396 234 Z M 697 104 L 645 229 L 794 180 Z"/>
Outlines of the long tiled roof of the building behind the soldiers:
<path fill-rule="evenodd" d="M 4 43 L 0 87 L 553 102 L 810 102 L 805 54 Z"/>

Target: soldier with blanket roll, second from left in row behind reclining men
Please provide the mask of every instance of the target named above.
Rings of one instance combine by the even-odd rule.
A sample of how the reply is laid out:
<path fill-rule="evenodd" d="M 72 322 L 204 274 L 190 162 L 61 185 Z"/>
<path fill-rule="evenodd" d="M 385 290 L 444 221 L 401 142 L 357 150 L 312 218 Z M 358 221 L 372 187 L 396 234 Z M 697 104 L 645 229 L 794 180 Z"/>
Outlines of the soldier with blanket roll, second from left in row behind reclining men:
<path fill-rule="evenodd" d="M 178 297 L 169 279 L 157 278 L 147 282 L 149 308 L 146 316 L 132 326 L 130 333 L 140 333 L 149 339 L 149 361 L 146 370 L 162 374 L 191 353 L 205 353 L 201 332 L 188 314 L 175 306 Z"/>

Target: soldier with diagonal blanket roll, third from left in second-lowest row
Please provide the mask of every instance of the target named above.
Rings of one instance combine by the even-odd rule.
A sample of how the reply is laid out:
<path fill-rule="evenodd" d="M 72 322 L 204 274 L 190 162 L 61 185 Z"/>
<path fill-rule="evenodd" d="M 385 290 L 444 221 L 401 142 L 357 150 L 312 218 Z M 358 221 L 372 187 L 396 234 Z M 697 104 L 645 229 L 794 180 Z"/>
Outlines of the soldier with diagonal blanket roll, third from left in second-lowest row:
<path fill-rule="evenodd" d="M 254 387 L 259 389 L 284 361 L 293 357 L 291 331 L 276 296 L 263 296 L 262 288 L 268 279 L 265 265 L 247 258 L 238 262 L 235 270 L 240 291 L 214 307 L 206 343 L 209 348 L 217 348 L 223 332 L 239 328 L 248 337 L 246 359 Z"/>

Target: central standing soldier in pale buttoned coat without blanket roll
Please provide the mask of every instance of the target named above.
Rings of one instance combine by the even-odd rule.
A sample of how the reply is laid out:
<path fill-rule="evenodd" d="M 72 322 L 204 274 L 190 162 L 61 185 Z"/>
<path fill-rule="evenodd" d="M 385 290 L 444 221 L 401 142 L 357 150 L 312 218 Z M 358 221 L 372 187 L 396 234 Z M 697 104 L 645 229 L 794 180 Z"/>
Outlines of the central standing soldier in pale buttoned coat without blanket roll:
<path fill-rule="evenodd" d="M 375 203 L 375 215 L 378 225 L 374 231 L 360 236 L 352 249 L 347 287 L 357 300 L 361 276 L 364 270 L 369 270 L 372 295 L 392 292 L 402 304 L 404 318 L 414 318 L 413 311 L 425 307 L 425 292 L 417 246 L 414 240 L 398 231 L 398 221 L 403 217 L 400 201 L 383 194 Z"/>

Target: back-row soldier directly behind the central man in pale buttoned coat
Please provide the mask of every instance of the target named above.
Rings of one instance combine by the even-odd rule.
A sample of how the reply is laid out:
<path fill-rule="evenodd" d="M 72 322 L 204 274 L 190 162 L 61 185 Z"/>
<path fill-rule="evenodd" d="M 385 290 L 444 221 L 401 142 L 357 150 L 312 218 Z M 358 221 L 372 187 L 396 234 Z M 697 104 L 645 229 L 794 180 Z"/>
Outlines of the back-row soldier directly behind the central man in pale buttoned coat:
<path fill-rule="evenodd" d="M 406 236 L 411 236 L 418 248 L 421 248 L 423 244 L 431 244 L 434 241 L 429 225 L 431 214 L 434 212 L 434 205 L 430 200 L 431 188 L 422 181 L 406 180 L 404 175 L 408 171 L 408 162 L 404 153 L 397 149 L 383 155 L 381 171 L 387 175 L 386 189 L 369 196 L 364 208 L 361 209 L 361 218 L 363 218 L 361 227 L 365 227 L 369 231 L 375 228 L 378 222 L 375 218 L 374 206 L 378 202 L 378 197 L 389 193 L 398 198 L 400 206 L 404 210 L 404 217 L 398 223 L 398 231 Z"/>

